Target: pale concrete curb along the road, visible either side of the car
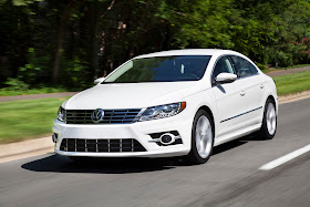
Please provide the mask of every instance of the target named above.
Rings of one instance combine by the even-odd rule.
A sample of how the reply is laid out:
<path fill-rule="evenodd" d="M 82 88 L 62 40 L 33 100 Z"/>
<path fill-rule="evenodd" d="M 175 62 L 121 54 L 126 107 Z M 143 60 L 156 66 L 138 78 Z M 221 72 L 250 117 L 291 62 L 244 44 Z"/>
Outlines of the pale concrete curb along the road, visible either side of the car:
<path fill-rule="evenodd" d="M 279 104 L 296 102 L 308 97 L 310 97 L 310 91 L 304 91 L 294 95 L 279 96 Z M 54 143 L 52 142 L 52 136 L 3 144 L 0 145 L 0 163 L 53 153 L 53 151 Z"/>

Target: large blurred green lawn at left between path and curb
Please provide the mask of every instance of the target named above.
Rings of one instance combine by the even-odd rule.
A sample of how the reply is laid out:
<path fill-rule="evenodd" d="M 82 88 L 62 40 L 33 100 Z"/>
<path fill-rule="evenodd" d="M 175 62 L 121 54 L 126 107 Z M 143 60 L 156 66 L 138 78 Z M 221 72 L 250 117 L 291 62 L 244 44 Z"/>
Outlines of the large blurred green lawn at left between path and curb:
<path fill-rule="evenodd" d="M 64 100 L 0 102 L 0 143 L 51 135 L 58 108 Z"/>

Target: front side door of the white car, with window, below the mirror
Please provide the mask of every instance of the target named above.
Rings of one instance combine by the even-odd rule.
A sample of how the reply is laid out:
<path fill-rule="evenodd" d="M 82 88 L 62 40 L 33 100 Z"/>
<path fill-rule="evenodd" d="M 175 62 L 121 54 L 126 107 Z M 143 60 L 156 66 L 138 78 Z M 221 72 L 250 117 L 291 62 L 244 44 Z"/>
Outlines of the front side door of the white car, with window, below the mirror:
<path fill-rule="evenodd" d="M 217 125 L 219 126 L 216 131 L 217 137 L 240 128 L 242 126 L 240 114 L 246 111 L 245 97 L 247 96 L 242 95 L 242 91 L 245 91 L 246 87 L 240 81 L 236 80 L 232 83 L 225 84 L 215 82 L 215 77 L 219 73 L 237 74 L 231 63 L 232 62 L 228 55 L 219 58 L 211 75 L 211 90 L 216 99 Z"/>

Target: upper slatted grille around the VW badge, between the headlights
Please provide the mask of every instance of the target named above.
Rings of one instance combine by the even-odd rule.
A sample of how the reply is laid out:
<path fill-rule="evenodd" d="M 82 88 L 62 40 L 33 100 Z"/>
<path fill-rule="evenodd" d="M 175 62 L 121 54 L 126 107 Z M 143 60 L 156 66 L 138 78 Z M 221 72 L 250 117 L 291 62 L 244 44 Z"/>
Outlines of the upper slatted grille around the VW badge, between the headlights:
<path fill-rule="evenodd" d="M 133 123 L 141 108 L 134 110 L 104 110 L 103 121 L 97 124 L 126 124 Z M 66 124 L 95 124 L 92 121 L 94 110 L 65 110 Z"/>

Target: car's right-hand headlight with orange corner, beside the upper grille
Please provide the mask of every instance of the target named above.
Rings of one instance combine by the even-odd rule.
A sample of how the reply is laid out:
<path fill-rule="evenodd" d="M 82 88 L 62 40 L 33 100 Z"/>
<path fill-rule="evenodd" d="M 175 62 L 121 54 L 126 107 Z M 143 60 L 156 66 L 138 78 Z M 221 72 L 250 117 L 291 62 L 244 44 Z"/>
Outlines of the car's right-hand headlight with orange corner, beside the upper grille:
<path fill-rule="evenodd" d="M 138 121 L 157 120 L 178 114 L 186 107 L 186 102 L 147 107 Z"/>

